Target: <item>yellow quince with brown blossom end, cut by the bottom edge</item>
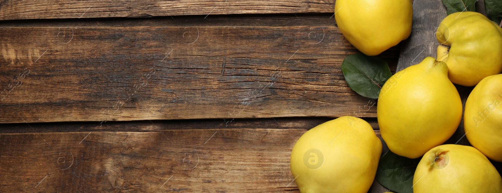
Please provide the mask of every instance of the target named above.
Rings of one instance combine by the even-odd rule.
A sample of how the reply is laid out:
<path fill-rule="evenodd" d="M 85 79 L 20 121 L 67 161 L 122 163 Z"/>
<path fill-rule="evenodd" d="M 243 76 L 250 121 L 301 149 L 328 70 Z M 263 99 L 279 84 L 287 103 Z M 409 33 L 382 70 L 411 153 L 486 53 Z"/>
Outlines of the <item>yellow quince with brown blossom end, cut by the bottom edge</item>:
<path fill-rule="evenodd" d="M 413 176 L 414 193 L 500 193 L 502 178 L 476 148 L 441 145 L 428 151 Z"/>

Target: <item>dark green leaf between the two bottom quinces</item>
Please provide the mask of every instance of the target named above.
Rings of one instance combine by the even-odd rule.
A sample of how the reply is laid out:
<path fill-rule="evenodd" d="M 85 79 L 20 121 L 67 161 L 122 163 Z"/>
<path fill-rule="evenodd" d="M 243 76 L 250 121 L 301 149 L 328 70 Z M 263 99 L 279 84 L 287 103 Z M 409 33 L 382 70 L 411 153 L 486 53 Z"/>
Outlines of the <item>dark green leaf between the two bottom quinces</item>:
<path fill-rule="evenodd" d="M 389 150 L 380 158 L 375 179 L 383 186 L 399 193 L 413 193 L 413 175 L 422 157 L 410 159 Z"/>

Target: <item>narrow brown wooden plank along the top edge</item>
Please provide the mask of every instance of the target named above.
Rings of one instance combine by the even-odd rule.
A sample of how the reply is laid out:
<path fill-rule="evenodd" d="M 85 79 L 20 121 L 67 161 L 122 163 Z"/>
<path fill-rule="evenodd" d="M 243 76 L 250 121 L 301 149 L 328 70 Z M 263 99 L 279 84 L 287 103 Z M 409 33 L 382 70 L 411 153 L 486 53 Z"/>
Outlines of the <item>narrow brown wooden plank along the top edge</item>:
<path fill-rule="evenodd" d="M 149 18 L 154 16 L 221 14 L 333 13 L 334 0 L 297 1 L 49 1 L 0 2 L 0 20 L 55 18 Z"/>

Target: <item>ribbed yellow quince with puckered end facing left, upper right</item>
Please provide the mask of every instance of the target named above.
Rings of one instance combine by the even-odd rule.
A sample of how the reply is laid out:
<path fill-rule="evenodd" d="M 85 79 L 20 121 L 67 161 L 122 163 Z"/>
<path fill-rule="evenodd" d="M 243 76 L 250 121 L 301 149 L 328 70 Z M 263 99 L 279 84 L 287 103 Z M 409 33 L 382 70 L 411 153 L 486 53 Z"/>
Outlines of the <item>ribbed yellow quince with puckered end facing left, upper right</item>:
<path fill-rule="evenodd" d="M 502 72 L 502 28 L 482 14 L 450 14 L 439 24 L 436 39 L 438 61 L 448 65 L 453 83 L 475 86 Z"/>

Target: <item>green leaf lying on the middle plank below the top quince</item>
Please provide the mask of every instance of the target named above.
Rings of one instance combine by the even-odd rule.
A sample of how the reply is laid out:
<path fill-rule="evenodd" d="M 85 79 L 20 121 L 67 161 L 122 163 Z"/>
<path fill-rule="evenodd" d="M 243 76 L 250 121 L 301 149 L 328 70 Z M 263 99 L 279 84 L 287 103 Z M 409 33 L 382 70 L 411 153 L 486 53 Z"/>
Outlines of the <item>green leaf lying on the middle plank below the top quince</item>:
<path fill-rule="evenodd" d="M 342 72 L 352 90 L 371 99 L 378 99 L 382 86 L 392 76 L 386 61 L 361 53 L 345 57 Z"/>

